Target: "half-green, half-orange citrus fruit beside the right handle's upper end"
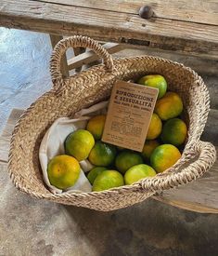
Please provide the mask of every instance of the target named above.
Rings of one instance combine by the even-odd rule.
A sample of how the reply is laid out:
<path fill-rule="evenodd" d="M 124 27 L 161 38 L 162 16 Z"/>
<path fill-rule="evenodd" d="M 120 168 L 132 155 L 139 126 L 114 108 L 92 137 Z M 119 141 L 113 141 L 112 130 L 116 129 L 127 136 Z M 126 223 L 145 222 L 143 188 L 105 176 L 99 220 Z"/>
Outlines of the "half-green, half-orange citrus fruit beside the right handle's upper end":
<path fill-rule="evenodd" d="M 162 172 L 175 164 L 181 154 L 172 144 L 162 144 L 158 146 L 150 156 L 151 167 L 157 172 Z"/>

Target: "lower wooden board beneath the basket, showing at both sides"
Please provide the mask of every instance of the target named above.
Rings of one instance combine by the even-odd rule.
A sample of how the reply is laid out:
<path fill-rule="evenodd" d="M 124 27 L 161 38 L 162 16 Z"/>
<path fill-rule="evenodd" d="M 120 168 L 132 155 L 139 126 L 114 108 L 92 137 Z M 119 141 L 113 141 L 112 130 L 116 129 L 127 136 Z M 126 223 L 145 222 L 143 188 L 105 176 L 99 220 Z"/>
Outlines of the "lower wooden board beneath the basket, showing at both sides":
<path fill-rule="evenodd" d="M 6 165 L 11 133 L 22 112 L 18 109 L 12 111 L 0 137 L 0 166 Z M 202 138 L 206 141 L 212 141 L 218 149 L 218 131 L 214 129 L 217 126 L 218 110 L 212 110 Z M 218 161 L 210 172 L 196 182 L 164 191 L 161 195 L 153 196 L 153 198 L 181 209 L 202 213 L 218 213 Z"/>

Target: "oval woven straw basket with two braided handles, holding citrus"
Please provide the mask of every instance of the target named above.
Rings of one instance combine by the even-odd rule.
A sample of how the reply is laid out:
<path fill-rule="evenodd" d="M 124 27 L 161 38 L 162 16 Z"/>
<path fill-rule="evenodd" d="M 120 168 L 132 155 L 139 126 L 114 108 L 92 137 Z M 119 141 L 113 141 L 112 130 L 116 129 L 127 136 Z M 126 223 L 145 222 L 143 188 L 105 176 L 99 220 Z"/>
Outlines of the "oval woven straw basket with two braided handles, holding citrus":
<path fill-rule="evenodd" d="M 103 64 L 63 78 L 60 60 L 69 47 L 89 47 L 103 59 Z M 192 182 L 212 167 L 215 149 L 211 143 L 199 141 L 210 110 L 209 93 L 201 77 L 190 68 L 149 56 L 112 60 L 96 41 L 72 36 L 58 42 L 52 53 L 50 71 L 53 89 L 32 103 L 19 118 L 13 132 L 8 169 L 20 191 L 61 204 L 108 211 L 134 205 L 157 192 Z M 133 185 L 104 192 L 59 195 L 49 192 L 43 182 L 38 158 L 46 129 L 60 116 L 71 117 L 82 108 L 108 99 L 117 79 L 135 80 L 145 74 L 162 74 L 169 89 L 178 92 L 184 101 L 188 139 L 181 159 L 173 168 Z"/>

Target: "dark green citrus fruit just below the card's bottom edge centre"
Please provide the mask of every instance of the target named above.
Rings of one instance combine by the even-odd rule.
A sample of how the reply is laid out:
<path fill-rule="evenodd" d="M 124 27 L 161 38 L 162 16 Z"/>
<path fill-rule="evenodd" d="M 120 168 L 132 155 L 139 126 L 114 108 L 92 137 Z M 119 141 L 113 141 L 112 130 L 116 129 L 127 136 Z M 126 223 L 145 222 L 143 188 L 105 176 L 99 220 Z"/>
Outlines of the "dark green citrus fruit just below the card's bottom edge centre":
<path fill-rule="evenodd" d="M 142 156 L 130 151 L 123 151 L 117 155 L 115 160 L 116 168 L 122 173 L 125 173 L 128 168 L 139 164 L 143 164 Z"/>

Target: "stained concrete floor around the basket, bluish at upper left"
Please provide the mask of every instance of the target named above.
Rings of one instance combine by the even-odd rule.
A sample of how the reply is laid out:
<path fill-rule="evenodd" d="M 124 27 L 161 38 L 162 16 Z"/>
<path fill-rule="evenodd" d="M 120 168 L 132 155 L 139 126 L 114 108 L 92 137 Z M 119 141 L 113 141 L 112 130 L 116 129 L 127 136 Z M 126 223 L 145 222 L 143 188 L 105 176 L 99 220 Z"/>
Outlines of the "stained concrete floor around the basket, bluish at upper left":
<path fill-rule="evenodd" d="M 0 28 L 0 131 L 11 109 L 26 108 L 51 87 L 46 34 Z M 125 50 L 122 56 L 147 53 Z M 217 108 L 217 62 L 156 51 L 201 74 Z M 118 54 L 121 55 L 121 54 Z M 205 65 L 207 63 L 207 65 Z M 0 166 L 0 255 L 218 255 L 218 215 L 148 199 L 113 212 L 67 207 L 21 194 Z"/>

